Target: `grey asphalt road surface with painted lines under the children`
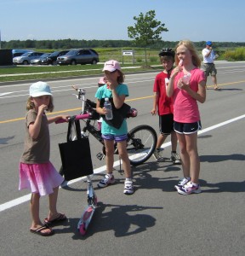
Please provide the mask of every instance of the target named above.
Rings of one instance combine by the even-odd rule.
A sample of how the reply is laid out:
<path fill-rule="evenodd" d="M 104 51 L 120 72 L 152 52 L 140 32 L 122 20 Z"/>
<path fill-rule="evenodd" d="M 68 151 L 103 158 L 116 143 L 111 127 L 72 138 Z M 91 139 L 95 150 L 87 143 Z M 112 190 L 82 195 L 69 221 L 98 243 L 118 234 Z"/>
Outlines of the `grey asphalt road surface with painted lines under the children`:
<path fill-rule="evenodd" d="M 0 221 L 1 255 L 244 255 L 245 253 L 245 149 L 244 62 L 217 61 L 218 84 L 213 90 L 208 78 L 207 101 L 200 104 L 202 131 L 198 136 L 201 159 L 200 195 L 178 195 L 174 184 L 181 166 L 151 159 L 133 167 L 136 192 L 122 194 L 123 176 L 117 183 L 97 189 L 104 175 L 104 162 L 95 155 L 100 144 L 90 137 L 94 164 L 94 187 L 99 199 L 88 234 L 77 232 L 77 222 L 86 206 L 86 183 L 69 183 L 60 189 L 58 208 L 69 218 L 54 227 L 51 237 L 29 232 L 30 191 L 18 190 L 18 164 L 23 149 L 24 116 L 30 83 L 0 84 Z M 151 116 L 152 84 L 156 73 L 128 74 L 128 104 L 139 115 L 128 119 L 129 129 L 148 124 L 156 131 L 158 119 Z M 81 102 L 72 96 L 71 84 L 80 84 L 94 99 L 98 78 L 50 81 L 54 114 L 79 113 Z M 83 85 L 82 85 L 83 84 Z M 50 125 L 51 161 L 60 168 L 58 143 L 66 141 L 66 124 Z M 169 139 L 163 145 L 170 155 Z M 119 169 L 119 166 L 116 166 Z M 43 197 L 40 215 L 46 218 L 48 197 Z"/>

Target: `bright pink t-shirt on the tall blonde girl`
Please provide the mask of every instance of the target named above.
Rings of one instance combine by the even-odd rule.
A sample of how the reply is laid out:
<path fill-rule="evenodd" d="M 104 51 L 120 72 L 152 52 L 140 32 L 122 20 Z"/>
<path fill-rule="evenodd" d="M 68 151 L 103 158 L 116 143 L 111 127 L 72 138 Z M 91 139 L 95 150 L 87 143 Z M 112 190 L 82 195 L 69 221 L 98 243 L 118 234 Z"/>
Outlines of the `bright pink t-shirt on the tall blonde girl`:
<path fill-rule="evenodd" d="M 191 70 L 190 87 L 191 90 L 197 91 L 198 84 L 205 80 L 204 72 L 199 68 Z M 200 120 L 197 100 L 192 98 L 185 90 L 179 90 L 178 81 L 184 76 L 180 72 L 174 78 L 174 121 L 179 123 L 195 123 Z"/>

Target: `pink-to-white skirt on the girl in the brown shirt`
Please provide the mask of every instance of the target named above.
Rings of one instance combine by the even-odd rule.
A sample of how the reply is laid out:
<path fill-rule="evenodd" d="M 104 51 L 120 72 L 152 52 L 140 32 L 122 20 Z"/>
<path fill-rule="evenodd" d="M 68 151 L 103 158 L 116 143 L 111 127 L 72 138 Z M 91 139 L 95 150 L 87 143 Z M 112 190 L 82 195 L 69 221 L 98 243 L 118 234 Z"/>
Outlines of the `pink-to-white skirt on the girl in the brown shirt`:
<path fill-rule="evenodd" d="M 56 171 L 51 162 L 45 164 L 20 163 L 19 190 L 30 189 L 31 193 L 49 195 L 63 181 L 64 178 Z"/>

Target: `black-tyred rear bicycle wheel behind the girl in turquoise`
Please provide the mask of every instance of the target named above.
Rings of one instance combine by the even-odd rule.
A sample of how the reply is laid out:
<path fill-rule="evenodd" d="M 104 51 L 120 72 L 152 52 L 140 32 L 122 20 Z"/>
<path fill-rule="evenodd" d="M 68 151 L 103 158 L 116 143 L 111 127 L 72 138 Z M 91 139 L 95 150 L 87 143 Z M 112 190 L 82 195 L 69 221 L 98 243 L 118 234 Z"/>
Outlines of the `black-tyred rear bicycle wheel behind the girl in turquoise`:
<path fill-rule="evenodd" d="M 139 166 L 148 160 L 157 146 L 157 132 L 150 125 L 139 125 L 128 132 L 130 164 Z"/>

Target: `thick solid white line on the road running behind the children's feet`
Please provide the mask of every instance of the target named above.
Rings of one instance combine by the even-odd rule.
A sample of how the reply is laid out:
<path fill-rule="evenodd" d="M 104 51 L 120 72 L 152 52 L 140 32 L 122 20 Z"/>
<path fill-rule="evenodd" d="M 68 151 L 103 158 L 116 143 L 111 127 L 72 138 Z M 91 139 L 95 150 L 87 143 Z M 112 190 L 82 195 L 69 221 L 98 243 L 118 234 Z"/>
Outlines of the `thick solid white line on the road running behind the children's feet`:
<path fill-rule="evenodd" d="M 202 131 L 198 131 L 198 135 L 200 135 L 202 133 L 205 133 L 207 131 L 212 131 L 212 130 L 217 129 L 217 128 L 219 128 L 221 126 L 224 126 L 224 125 L 229 125 L 232 122 L 236 122 L 237 120 L 244 119 L 244 118 L 245 118 L 245 114 L 240 115 L 240 116 L 238 116 L 238 117 L 236 117 L 234 119 L 230 119 L 230 120 L 227 120 L 225 122 L 219 123 L 217 125 L 212 125 L 212 126 L 206 128 L 206 129 L 203 129 Z M 162 145 L 162 148 L 167 148 L 170 145 L 171 145 L 170 142 L 164 143 Z M 119 166 L 119 161 L 116 161 L 114 163 L 114 167 L 115 166 Z M 94 170 L 94 174 L 97 174 L 97 173 L 100 173 L 100 172 L 104 172 L 104 171 L 105 171 L 105 166 L 101 166 L 100 168 L 97 168 L 97 169 Z M 61 187 L 64 187 L 67 184 L 69 185 L 71 183 L 77 183 L 78 181 L 81 181 L 81 180 L 84 180 L 84 177 L 79 177 L 79 178 L 74 179 L 74 180 L 72 180 L 70 182 L 65 182 L 65 183 L 62 184 Z M 0 205 L 0 212 L 3 212 L 3 211 L 5 211 L 5 210 L 7 210 L 9 208 L 12 208 L 12 207 L 16 207 L 16 206 L 18 206 L 18 205 L 20 205 L 20 204 L 22 204 L 22 203 L 24 203 L 26 201 L 30 201 L 30 198 L 31 198 L 31 193 L 28 194 L 28 195 L 23 195 L 23 196 L 21 196 L 19 198 L 16 198 L 16 199 L 12 200 L 12 201 L 8 201 L 6 203 L 3 203 L 2 205 Z"/>

